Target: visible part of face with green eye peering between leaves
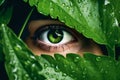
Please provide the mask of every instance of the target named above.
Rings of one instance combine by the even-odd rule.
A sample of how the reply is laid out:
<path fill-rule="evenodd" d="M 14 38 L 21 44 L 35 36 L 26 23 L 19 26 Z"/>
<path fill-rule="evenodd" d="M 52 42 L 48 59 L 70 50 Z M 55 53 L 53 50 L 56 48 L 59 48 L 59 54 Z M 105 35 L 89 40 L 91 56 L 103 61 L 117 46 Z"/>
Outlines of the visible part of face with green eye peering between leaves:
<path fill-rule="evenodd" d="M 29 23 L 28 29 L 30 34 L 25 42 L 35 55 L 102 53 L 92 40 L 56 20 L 34 20 Z"/>

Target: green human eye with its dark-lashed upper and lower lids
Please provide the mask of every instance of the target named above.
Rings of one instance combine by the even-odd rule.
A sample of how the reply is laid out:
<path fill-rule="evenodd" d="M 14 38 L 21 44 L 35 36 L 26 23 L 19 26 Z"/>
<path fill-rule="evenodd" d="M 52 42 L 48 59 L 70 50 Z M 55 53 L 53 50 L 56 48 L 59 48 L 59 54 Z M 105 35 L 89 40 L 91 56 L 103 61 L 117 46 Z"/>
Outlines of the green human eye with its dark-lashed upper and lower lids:
<path fill-rule="evenodd" d="M 33 39 L 39 48 L 49 52 L 62 52 L 70 49 L 77 42 L 74 32 L 60 24 L 44 25 L 38 28 Z"/>

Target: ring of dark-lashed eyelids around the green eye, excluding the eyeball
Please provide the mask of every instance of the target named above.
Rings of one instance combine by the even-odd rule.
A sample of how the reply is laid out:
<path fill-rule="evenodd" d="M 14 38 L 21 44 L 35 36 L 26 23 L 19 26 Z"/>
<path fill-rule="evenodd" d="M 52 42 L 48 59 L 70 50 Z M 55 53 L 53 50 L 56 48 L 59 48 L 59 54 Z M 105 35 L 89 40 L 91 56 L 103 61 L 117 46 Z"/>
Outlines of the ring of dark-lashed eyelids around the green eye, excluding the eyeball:
<path fill-rule="evenodd" d="M 58 44 L 55 46 L 48 45 L 47 43 L 39 40 L 39 35 L 42 34 L 44 31 L 49 30 L 49 29 L 65 30 L 73 37 L 73 40 L 71 40 L 70 42 L 67 42 L 65 44 L 60 44 L 60 45 Z M 43 49 L 45 51 L 49 51 L 49 52 L 61 52 L 61 51 L 64 51 L 66 49 L 70 49 L 72 44 L 77 42 L 77 39 L 74 37 L 73 31 L 71 29 L 69 29 L 68 27 L 66 27 L 64 25 L 60 25 L 60 24 L 50 24 L 50 25 L 41 26 L 40 28 L 38 28 L 35 31 L 32 39 L 38 47 L 40 47 L 41 49 Z"/>

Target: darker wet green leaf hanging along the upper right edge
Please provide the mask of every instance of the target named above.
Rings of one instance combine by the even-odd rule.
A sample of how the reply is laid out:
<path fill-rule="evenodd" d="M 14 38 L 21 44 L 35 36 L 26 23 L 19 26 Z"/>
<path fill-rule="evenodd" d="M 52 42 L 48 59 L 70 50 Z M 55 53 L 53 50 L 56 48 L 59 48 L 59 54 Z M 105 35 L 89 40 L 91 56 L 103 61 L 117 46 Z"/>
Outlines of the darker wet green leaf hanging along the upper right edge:
<path fill-rule="evenodd" d="M 115 45 L 120 45 L 120 17 L 118 0 L 101 0 L 99 1 L 99 11 L 101 17 L 102 32 L 106 36 L 107 49 L 110 56 L 115 56 Z M 117 8 L 116 8 L 117 6 Z"/>

